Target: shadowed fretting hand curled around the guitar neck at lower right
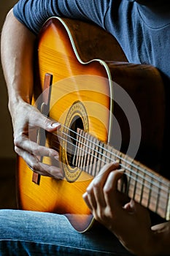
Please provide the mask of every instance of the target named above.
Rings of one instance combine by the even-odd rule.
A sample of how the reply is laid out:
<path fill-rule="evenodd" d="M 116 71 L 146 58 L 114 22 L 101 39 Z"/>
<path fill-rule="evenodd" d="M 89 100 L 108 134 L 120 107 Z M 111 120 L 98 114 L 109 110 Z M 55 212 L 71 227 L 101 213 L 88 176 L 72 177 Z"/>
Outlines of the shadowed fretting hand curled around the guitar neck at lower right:
<path fill-rule="evenodd" d="M 135 255 L 157 255 L 158 230 L 151 229 L 150 214 L 146 208 L 129 200 L 117 190 L 117 181 L 123 170 L 119 164 L 104 165 L 83 195 L 93 217 L 117 236 Z"/>

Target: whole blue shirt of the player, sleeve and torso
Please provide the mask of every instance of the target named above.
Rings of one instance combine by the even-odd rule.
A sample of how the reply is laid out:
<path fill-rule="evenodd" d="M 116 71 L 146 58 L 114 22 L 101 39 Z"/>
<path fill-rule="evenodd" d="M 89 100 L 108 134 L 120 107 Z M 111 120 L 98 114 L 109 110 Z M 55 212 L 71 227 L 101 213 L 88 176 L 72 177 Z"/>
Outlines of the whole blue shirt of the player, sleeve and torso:
<path fill-rule="evenodd" d="M 51 16 L 92 20 L 117 38 L 129 62 L 152 64 L 170 79 L 170 8 L 134 0 L 20 0 L 14 15 L 35 34 Z"/>

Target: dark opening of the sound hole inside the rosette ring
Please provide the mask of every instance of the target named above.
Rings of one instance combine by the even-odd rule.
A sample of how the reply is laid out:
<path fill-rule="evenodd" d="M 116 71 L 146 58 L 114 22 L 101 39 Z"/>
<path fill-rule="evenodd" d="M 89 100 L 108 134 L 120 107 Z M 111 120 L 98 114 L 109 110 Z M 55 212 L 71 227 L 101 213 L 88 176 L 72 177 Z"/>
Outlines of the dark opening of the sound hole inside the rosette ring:
<path fill-rule="evenodd" d="M 82 118 L 80 116 L 74 116 L 71 126 L 69 128 L 69 143 L 67 143 L 67 159 L 69 165 L 75 166 L 76 162 L 76 144 L 77 144 L 77 128 L 84 129 Z"/>

